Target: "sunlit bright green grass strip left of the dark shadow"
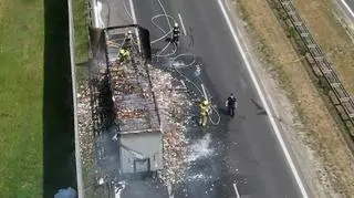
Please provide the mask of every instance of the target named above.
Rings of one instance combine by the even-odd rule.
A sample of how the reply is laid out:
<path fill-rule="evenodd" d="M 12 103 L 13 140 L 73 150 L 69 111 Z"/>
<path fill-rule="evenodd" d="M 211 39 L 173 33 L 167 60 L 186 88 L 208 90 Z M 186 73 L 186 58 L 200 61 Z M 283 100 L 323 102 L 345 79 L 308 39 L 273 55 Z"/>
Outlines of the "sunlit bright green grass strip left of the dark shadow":
<path fill-rule="evenodd" d="M 43 1 L 0 3 L 0 197 L 40 197 Z"/>

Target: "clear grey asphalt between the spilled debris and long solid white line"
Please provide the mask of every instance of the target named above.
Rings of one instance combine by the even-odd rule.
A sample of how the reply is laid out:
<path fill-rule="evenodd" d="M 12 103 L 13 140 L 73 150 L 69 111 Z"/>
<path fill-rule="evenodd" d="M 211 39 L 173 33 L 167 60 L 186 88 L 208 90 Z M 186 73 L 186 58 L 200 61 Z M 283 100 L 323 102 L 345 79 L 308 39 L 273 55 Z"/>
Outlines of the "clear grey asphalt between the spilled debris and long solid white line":
<path fill-rule="evenodd" d="M 235 119 L 221 115 L 220 125 L 208 128 L 214 155 L 197 160 L 189 169 L 191 175 L 199 173 L 207 177 L 175 188 L 175 197 L 236 197 L 235 183 L 241 196 L 301 197 L 267 115 L 259 110 L 260 98 L 217 2 L 165 0 L 162 3 L 176 20 L 180 13 L 189 37 L 181 39 L 178 53 L 195 53 L 204 63 L 202 79 L 214 101 L 222 106 L 230 92 L 239 98 Z M 154 15 L 163 13 L 157 0 L 135 0 L 134 4 L 137 22 L 150 30 L 152 40 L 160 37 L 150 22 Z M 198 142 L 205 136 L 194 138 Z"/>

